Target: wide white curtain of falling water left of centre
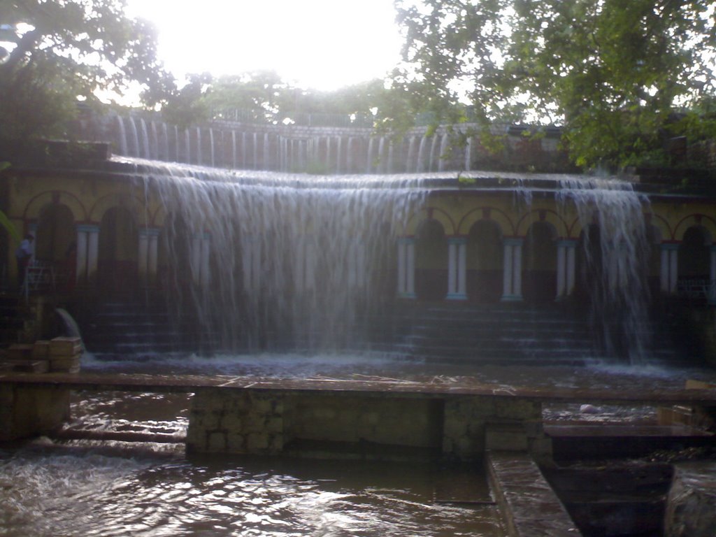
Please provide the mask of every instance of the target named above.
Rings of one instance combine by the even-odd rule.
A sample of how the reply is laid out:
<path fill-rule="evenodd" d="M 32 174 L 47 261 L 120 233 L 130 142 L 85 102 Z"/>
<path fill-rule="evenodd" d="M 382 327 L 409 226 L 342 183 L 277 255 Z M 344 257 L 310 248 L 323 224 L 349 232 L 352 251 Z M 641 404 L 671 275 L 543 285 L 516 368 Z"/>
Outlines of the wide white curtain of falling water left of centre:
<path fill-rule="evenodd" d="M 360 343 L 395 294 L 395 234 L 426 192 L 417 179 L 191 167 L 139 180 L 168 214 L 160 281 L 173 309 L 195 311 L 225 349 Z"/>

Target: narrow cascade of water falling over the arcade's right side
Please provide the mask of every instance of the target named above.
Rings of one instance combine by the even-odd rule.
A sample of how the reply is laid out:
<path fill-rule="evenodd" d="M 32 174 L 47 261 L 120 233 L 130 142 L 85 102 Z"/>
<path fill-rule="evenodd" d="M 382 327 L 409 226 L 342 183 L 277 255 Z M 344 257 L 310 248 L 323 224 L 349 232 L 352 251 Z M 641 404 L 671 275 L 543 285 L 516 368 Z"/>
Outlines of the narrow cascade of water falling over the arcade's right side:
<path fill-rule="evenodd" d="M 649 199 L 619 180 L 563 180 L 558 200 L 574 203 L 583 231 L 581 282 L 591 321 L 610 355 L 643 362 L 649 345 L 649 241 L 644 222 Z"/>

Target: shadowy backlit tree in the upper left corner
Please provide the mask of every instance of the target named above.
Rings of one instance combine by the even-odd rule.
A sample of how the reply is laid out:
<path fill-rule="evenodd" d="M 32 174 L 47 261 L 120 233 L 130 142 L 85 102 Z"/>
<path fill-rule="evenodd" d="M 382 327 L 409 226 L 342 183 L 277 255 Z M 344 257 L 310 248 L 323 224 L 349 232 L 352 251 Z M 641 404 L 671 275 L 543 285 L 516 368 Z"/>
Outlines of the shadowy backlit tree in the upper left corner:
<path fill-rule="evenodd" d="M 6 0 L 0 23 L 0 137 L 62 135 L 78 98 L 171 83 L 155 30 L 124 0 Z"/>

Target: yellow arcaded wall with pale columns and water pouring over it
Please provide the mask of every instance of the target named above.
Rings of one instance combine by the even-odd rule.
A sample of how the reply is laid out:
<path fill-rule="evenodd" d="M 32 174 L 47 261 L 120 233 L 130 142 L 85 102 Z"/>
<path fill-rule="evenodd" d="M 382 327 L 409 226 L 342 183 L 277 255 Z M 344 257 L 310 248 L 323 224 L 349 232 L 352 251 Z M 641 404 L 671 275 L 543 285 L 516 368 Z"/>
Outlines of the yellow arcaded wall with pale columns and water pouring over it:
<path fill-rule="evenodd" d="M 137 137 L 145 130 L 163 132 L 139 124 Z M 415 137 L 411 153 L 428 145 Z M 37 258 L 62 290 L 105 304 L 129 299 L 135 311 L 162 304 L 188 349 L 410 354 L 410 341 L 427 339 L 406 312 L 439 302 L 464 314 L 442 315 L 463 320 L 430 335 L 432 349 L 447 348 L 435 337 L 448 334 L 474 341 L 463 335 L 478 332 L 479 316 L 465 304 L 499 305 L 505 316 L 588 314 L 589 349 L 561 337 L 570 323 L 558 318 L 549 345 L 570 340 L 565 348 L 585 347 L 580 359 L 635 361 L 653 351 L 650 306 L 686 292 L 714 298 L 709 198 L 663 185 L 447 170 L 308 175 L 134 158 L 52 171 L 20 163 L 14 173 L 10 212 L 37 233 Z M 513 317 L 528 324 L 530 315 Z M 514 352 L 505 347 L 505 359 Z"/>

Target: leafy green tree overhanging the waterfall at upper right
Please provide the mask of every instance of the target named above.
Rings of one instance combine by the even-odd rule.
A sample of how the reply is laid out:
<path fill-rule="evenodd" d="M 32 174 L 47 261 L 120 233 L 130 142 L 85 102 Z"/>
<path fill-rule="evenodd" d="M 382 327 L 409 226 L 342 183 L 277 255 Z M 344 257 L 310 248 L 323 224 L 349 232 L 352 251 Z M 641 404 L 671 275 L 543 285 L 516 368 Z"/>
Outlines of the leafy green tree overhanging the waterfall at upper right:
<path fill-rule="evenodd" d="M 395 87 L 437 121 L 560 125 L 579 165 L 664 158 L 664 139 L 716 134 L 716 3 L 396 0 Z M 412 108 L 415 111 L 415 107 Z"/>

